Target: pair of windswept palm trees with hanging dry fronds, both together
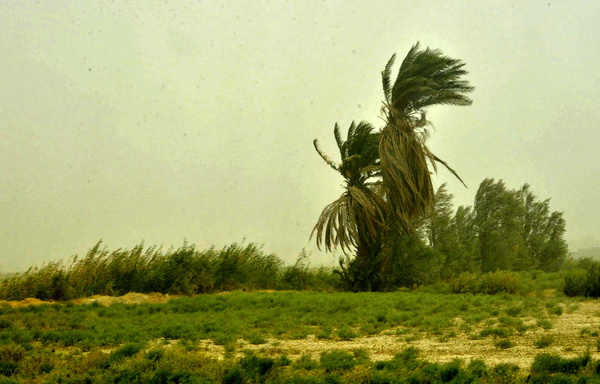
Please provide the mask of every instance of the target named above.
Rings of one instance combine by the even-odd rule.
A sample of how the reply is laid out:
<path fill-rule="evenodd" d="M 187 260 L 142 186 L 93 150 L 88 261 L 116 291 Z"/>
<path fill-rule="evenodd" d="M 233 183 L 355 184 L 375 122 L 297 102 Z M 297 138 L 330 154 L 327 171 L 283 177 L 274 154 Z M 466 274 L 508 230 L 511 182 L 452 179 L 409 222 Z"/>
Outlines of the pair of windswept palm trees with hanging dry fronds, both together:
<path fill-rule="evenodd" d="M 403 60 L 392 85 L 395 57 L 382 72 L 383 129 L 375 132 L 366 122 L 353 122 L 344 141 L 336 124 L 334 135 L 342 160 L 339 164 L 314 141 L 319 155 L 344 177 L 346 185 L 342 196 L 325 207 L 311 237 L 316 234 L 319 249 L 324 244 L 330 252 L 337 247 L 345 253 L 356 250 L 352 265 L 356 268 L 353 273 L 361 280 L 358 289 L 377 289 L 376 281 L 381 282 L 381 276 L 374 274 L 391 260 L 389 252 L 387 261 L 380 258 L 384 243 L 390 242 L 390 230 L 393 236 L 411 238 L 415 234 L 413 223 L 429 210 L 434 199 L 429 165 L 433 171 L 437 171 L 436 163 L 444 165 L 462 182 L 427 147 L 426 127 L 430 122 L 426 112 L 433 105 L 471 104 L 465 94 L 473 87 L 462 80 L 467 74 L 464 63 L 439 50 L 420 50 L 417 43 Z M 344 269 L 342 262 L 340 265 Z"/>

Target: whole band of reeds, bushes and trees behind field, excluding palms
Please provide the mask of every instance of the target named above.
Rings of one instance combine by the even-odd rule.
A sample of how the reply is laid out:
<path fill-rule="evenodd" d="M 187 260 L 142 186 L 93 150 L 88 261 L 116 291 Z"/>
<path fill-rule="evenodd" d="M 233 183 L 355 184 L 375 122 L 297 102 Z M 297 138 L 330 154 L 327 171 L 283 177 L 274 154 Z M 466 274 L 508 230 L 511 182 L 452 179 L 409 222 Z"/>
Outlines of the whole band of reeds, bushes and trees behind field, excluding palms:
<path fill-rule="evenodd" d="M 98 242 L 83 257 L 6 275 L 0 279 L 0 299 L 69 300 L 128 292 L 357 291 L 367 283 L 380 291 L 437 284 L 454 293 L 551 288 L 569 296 L 600 296 L 600 263 L 567 262 L 562 213 L 551 212 L 549 200 L 539 201 L 528 185 L 510 190 L 502 180 L 486 179 L 474 206 L 456 211 L 442 185 L 415 228 L 415 236 L 388 238 L 392 242 L 376 255 L 380 268 L 366 272 L 351 256 L 342 258 L 337 268 L 311 266 L 305 251 L 293 265 L 286 265 L 254 243 L 207 250 L 190 244 L 169 250 L 139 244 L 109 251 Z M 552 283 L 540 286 L 539 281 Z"/>

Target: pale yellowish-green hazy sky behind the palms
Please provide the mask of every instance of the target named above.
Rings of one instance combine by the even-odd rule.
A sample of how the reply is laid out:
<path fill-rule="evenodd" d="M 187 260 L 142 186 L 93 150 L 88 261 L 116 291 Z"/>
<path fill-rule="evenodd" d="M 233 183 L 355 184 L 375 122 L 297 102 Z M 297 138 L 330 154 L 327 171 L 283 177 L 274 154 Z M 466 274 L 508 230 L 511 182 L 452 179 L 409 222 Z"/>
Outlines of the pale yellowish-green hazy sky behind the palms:
<path fill-rule="evenodd" d="M 335 122 L 380 127 L 381 70 L 416 41 L 476 86 L 429 112 L 469 189 L 436 185 L 459 205 L 486 177 L 527 182 L 571 250 L 600 245 L 598 20 L 588 0 L 2 0 L 0 272 L 99 239 L 333 261 L 308 237 L 342 179 L 312 140 L 337 158 Z"/>

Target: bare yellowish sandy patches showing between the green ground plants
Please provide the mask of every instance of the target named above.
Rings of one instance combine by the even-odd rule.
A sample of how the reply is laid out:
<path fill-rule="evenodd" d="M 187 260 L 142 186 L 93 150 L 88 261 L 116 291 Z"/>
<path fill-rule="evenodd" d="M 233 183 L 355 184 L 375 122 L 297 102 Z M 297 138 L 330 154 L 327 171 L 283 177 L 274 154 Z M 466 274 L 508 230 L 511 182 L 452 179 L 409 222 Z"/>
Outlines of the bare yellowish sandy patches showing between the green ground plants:
<path fill-rule="evenodd" d="M 174 298 L 177 298 L 177 296 L 158 293 L 129 293 L 121 297 L 92 296 L 73 300 L 73 303 L 98 302 L 102 305 L 113 303 L 166 303 Z M 22 307 L 47 304 L 48 302 L 29 298 L 17 302 L 4 301 L 0 302 L 0 305 L 4 303 L 14 307 Z M 523 334 L 515 333 L 510 336 L 513 346 L 508 349 L 497 348 L 492 337 L 474 337 L 478 335 L 481 329 L 463 331 L 459 326 L 460 321 L 457 320 L 454 329 L 456 336 L 445 340 L 440 335 L 405 329 L 406 333 L 402 335 L 398 335 L 397 330 L 387 330 L 379 335 L 359 337 L 349 341 L 319 340 L 314 335 L 309 335 L 302 340 L 267 339 L 264 344 L 253 345 L 240 339 L 235 350 L 239 355 L 244 350 L 253 350 L 269 356 L 287 355 L 291 359 L 310 354 L 313 358 L 318 359 L 324 351 L 332 349 L 352 351 L 353 349 L 362 348 L 367 351 L 371 360 L 388 360 L 408 347 L 415 347 L 420 351 L 420 356 L 429 361 L 446 362 L 458 358 L 468 362 L 481 359 L 490 365 L 500 363 L 516 364 L 524 370 L 530 367 L 534 357 L 540 353 L 575 357 L 589 351 L 592 357 L 600 358 L 600 352 L 598 351 L 600 337 L 592 336 L 594 331 L 600 332 L 600 302 L 596 300 L 581 301 L 572 310 L 564 311 L 562 315 L 555 316 L 550 320 L 552 328 L 549 330 L 534 326 Z M 536 324 L 536 320 L 533 318 L 523 318 L 523 321 L 525 324 Z M 537 348 L 535 341 L 544 335 L 553 338 L 552 344 L 543 349 Z M 166 340 L 155 340 L 149 347 L 173 344 L 174 342 Z M 210 340 L 199 341 L 198 349 L 218 358 L 223 358 L 226 353 L 223 346 L 215 345 Z"/>

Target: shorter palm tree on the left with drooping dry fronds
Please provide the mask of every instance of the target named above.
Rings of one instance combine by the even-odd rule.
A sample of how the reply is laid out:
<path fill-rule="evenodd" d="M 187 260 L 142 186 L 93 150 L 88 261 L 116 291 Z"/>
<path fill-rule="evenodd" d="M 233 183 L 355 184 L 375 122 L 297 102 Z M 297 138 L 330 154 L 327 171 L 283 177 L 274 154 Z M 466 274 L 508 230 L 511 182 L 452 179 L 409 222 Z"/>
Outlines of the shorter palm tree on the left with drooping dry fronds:
<path fill-rule="evenodd" d="M 338 246 L 344 251 L 356 249 L 356 267 L 360 270 L 358 280 L 371 290 L 369 276 L 373 271 L 371 260 L 381 250 L 385 233 L 388 204 L 382 197 L 381 167 L 379 164 L 379 133 L 366 122 L 348 128 L 346 140 L 342 139 L 336 124 L 334 136 L 342 162 L 337 164 L 320 148 L 317 139 L 314 146 L 321 158 L 339 172 L 345 181 L 344 193 L 323 209 L 311 237 L 316 234 L 317 247 L 325 244 L 327 251 Z M 340 260 L 344 269 L 344 262 Z"/>

